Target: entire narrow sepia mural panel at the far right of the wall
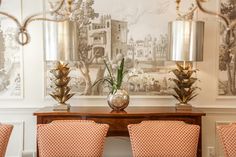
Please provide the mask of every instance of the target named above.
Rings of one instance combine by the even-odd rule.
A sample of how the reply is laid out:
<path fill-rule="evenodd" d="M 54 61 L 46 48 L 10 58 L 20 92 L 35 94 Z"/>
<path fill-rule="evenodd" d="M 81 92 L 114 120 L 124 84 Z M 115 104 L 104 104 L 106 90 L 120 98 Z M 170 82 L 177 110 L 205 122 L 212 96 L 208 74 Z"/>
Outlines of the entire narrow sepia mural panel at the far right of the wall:
<path fill-rule="evenodd" d="M 236 20 L 236 1 L 221 0 L 220 11 L 230 20 Z M 224 25 L 220 25 L 219 54 L 219 96 L 236 96 L 236 30 L 226 34 Z M 230 39 L 230 40 L 228 40 Z"/>

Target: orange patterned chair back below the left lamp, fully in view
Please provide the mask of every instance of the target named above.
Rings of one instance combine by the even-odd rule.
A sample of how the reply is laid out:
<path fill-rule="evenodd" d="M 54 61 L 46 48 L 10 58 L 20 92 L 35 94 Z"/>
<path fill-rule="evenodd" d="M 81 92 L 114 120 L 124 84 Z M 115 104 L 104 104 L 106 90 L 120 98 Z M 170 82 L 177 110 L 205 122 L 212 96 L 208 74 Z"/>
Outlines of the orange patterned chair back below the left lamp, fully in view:
<path fill-rule="evenodd" d="M 100 157 L 109 126 L 91 121 L 38 125 L 40 157 Z"/>

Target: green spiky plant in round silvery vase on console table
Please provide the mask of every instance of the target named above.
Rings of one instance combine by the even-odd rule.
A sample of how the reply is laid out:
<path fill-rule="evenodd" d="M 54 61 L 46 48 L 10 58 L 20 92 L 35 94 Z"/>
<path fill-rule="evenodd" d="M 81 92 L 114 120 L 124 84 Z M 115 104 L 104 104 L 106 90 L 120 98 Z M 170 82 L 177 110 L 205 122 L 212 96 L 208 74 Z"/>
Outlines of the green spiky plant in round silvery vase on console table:
<path fill-rule="evenodd" d="M 115 111 L 122 111 L 124 110 L 129 104 L 129 94 L 126 90 L 122 89 L 122 82 L 124 79 L 124 62 L 125 59 L 123 58 L 120 65 L 116 69 L 116 76 L 113 75 L 113 70 L 104 60 L 104 64 L 108 71 L 108 76 L 105 76 L 103 79 L 100 79 L 94 83 L 108 83 L 110 92 L 107 96 L 108 105 Z"/>

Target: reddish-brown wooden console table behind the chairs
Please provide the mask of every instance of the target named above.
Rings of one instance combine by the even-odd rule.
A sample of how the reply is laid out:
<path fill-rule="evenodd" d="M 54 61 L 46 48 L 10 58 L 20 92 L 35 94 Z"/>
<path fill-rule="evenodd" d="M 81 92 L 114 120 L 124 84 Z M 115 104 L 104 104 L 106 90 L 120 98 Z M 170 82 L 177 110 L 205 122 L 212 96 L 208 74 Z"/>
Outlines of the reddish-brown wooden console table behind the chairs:
<path fill-rule="evenodd" d="M 176 111 L 175 107 L 128 107 L 125 112 L 119 113 L 112 112 L 109 107 L 71 107 L 68 112 L 53 111 L 52 107 L 45 107 L 34 115 L 37 116 L 37 124 L 46 124 L 53 120 L 94 120 L 109 124 L 108 136 L 129 136 L 127 125 L 143 120 L 180 120 L 201 127 L 201 118 L 205 113 L 197 109 Z M 200 131 L 198 157 L 202 156 L 201 141 Z"/>

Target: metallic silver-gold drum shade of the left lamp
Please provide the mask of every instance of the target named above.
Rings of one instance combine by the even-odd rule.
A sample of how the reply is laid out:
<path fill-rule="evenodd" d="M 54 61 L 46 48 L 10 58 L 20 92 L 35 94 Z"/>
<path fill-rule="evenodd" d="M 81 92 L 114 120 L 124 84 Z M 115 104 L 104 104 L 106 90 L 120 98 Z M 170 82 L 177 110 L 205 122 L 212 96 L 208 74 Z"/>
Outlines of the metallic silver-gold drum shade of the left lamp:
<path fill-rule="evenodd" d="M 77 25 L 73 21 L 46 22 L 46 61 L 78 61 Z"/>

